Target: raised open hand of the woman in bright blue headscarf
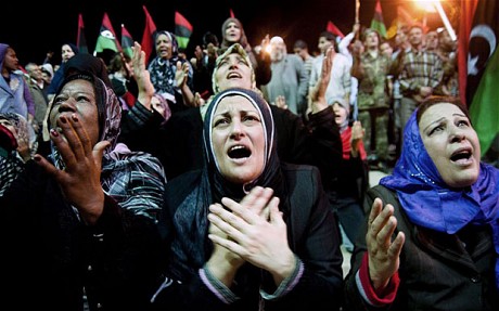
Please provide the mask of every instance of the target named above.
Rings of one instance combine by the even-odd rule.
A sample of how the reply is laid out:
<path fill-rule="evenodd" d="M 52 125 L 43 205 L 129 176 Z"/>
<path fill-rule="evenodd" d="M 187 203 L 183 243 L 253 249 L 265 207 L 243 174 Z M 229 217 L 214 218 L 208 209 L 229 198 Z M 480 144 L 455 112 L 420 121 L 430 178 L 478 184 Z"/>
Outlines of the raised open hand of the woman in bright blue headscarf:
<path fill-rule="evenodd" d="M 383 202 L 375 198 L 369 215 L 366 242 L 369 252 L 369 276 L 375 289 L 383 289 L 400 265 L 400 251 L 406 241 L 399 231 L 394 241 L 392 235 L 397 228 L 394 207 L 383 208 Z"/>

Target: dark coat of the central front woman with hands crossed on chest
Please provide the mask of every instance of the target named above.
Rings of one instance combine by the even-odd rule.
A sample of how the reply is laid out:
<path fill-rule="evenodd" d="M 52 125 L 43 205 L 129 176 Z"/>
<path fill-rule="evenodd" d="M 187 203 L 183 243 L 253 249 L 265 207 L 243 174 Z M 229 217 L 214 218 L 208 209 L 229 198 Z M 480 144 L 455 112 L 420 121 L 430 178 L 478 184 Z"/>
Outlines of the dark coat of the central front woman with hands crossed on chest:
<path fill-rule="evenodd" d="M 298 284 L 281 299 L 265 302 L 265 310 L 338 310 L 343 295 L 342 254 L 336 219 L 329 208 L 328 199 L 320 186 L 317 168 L 311 166 L 283 165 L 289 190 L 290 210 L 284 212 L 287 239 L 291 249 L 302 259 L 304 274 Z M 172 219 L 179 204 L 201 181 L 201 171 L 187 172 L 171 180 L 166 187 L 165 217 Z M 317 186 L 319 185 L 319 186 Z M 329 225 L 328 223 L 331 223 Z M 163 222 L 163 236 L 169 249 L 176 232 L 172 225 Z M 207 237 L 206 237 L 207 238 Z M 207 258 L 206 258 L 207 260 Z M 193 267 L 194 271 L 196 268 Z M 159 291 L 157 310 L 238 310 L 258 309 L 258 288 L 273 283 L 271 276 L 253 267 L 244 265 L 238 273 L 236 287 L 241 299 L 225 304 L 202 282 L 197 273 L 183 275 L 182 283 L 174 282 Z M 273 293 L 267 290 L 267 293 Z"/>

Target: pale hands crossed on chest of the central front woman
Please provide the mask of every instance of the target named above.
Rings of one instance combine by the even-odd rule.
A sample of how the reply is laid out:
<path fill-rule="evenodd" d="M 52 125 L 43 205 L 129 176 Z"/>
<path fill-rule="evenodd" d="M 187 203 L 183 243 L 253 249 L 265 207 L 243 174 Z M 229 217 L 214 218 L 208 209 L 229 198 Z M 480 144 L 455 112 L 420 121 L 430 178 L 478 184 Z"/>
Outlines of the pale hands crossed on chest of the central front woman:
<path fill-rule="evenodd" d="M 269 271 L 277 285 L 293 273 L 296 259 L 272 189 L 256 186 L 240 203 L 225 197 L 209 206 L 208 220 L 215 249 L 207 264 L 226 285 L 244 262 Z"/>

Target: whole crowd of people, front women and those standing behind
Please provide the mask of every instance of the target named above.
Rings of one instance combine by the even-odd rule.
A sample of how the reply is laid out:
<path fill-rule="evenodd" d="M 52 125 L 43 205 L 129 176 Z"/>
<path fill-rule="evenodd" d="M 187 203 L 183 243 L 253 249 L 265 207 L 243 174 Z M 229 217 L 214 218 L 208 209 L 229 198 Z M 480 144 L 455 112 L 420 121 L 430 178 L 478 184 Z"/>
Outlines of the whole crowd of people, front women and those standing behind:
<path fill-rule="evenodd" d="M 252 47 L 230 17 L 192 59 L 168 30 L 149 62 L 64 43 L 21 66 L 0 43 L 5 304 L 498 310 L 499 169 L 456 42 L 420 24 L 317 42 Z"/>

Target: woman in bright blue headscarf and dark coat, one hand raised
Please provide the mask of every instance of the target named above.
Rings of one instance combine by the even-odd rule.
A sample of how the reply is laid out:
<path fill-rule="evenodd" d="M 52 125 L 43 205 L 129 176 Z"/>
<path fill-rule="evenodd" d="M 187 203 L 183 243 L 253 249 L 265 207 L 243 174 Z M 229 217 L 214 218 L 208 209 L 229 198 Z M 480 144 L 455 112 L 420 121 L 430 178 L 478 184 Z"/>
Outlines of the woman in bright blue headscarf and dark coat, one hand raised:
<path fill-rule="evenodd" d="M 345 310 L 498 310 L 499 170 L 459 99 L 418 106 L 366 208 Z"/>

